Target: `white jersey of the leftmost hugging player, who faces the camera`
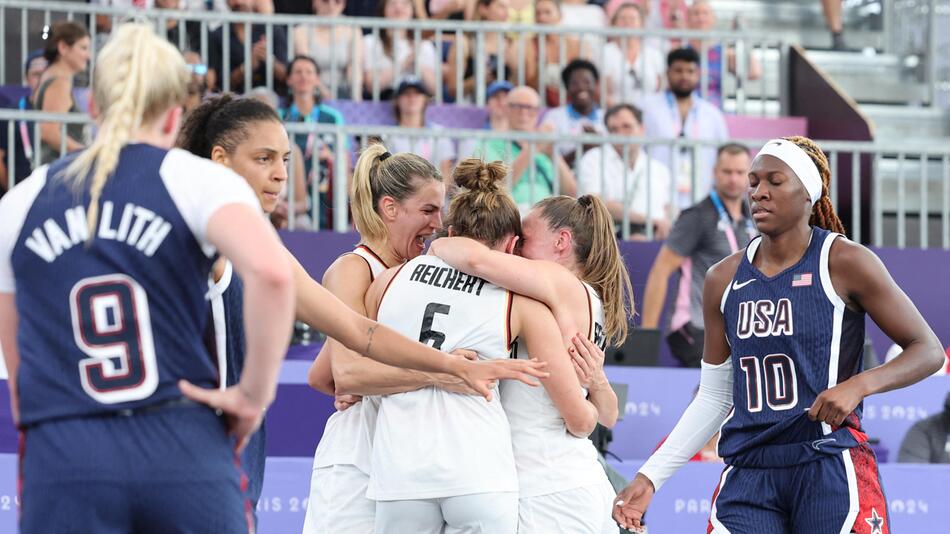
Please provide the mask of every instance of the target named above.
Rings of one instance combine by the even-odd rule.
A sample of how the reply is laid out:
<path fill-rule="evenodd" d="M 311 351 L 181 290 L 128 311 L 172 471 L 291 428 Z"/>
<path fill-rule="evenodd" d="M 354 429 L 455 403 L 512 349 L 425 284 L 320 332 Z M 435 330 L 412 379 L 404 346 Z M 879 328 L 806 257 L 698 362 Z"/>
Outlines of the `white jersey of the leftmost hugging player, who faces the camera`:
<path fill-rule="evenodd" d="M 356 247 L 354 254 L 363 258 L 369 268 L 370 281 L 388 267 L 366 245 Z M 344 254 L 344 255 L 346 255 Z M 373 430 L 376 427 L 376 414 L 379 411 L 379 397 L 367 395 L 363 400 L 342 412 L 334 412 L 323 429 L 323 437 L 317 444 L 313 456 L 313 468 L 331 465 L 355 465 L 369 475 Z"/>

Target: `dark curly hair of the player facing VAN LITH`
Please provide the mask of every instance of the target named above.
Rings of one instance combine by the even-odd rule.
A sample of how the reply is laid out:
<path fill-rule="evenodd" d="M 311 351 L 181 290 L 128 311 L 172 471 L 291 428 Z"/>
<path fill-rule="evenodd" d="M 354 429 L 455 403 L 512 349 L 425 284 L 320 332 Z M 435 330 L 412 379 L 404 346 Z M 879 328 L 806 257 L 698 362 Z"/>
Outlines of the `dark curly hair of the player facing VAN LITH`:
<path fill-rule="evenodd" d="M 251 124 L 266 121 L 280 123 L 273 108 L 260 100 L 225 93 L 205 100 L 188 114 L 175 146 L 209 159 L 215 146 L 231 154 L 250 137 Z"/>

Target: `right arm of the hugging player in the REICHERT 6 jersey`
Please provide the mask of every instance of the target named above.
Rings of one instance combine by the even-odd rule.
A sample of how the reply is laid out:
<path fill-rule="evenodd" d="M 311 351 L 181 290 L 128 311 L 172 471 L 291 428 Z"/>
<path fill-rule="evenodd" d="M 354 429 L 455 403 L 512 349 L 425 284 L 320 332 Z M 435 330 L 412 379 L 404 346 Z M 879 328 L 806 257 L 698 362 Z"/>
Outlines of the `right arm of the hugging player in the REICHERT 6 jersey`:
<path fill-rule="evenodd" d="M 597 408 L 584 398 L 551 310 L 536 300 L 515 295 L 511 305 L 511 329 L 512 335 L 525 341 L 528 354 L 547 362 L 550 376 L 542 378 L 541 384 L 554 401 L 568 432 L 581 438 L 589 436 L 597 425 Z"/>

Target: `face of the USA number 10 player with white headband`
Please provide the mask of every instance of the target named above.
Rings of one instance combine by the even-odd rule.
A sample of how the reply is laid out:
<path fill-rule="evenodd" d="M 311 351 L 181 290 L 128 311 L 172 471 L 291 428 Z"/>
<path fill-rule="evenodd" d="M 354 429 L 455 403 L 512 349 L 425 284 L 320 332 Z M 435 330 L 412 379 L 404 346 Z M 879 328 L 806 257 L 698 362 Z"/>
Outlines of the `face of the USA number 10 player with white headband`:
<path fill-rule="evenodd" d="M 808 223 L 812 205 L 804 184 L 782 160 L 762 155 L 749 169 L 749 203 L 760 233 L 777 235 Z"/>

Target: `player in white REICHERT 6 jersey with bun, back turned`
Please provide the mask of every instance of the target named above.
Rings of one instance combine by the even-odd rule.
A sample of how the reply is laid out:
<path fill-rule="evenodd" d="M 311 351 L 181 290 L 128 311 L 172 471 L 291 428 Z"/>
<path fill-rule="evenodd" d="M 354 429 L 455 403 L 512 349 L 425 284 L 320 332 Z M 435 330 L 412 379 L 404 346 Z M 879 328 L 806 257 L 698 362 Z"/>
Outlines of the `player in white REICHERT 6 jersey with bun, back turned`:
<path fill-rule="evenodd" d="M 494 250 L 514 249 L 521 220 L 499 187 L 506 173 L 501 162 L 459 164 L 453 177 L 465 190 L 449 207 L 451 234 Z M 503 359 L 519 338 L 548 363 L 550 376 L 542 383 L 563 417 L 561 428 L 584 438 L 593 430 L 597 409 L 584 398 L 557 322 L 540 302 L 427 255 L 380 275 L 366 304 L 370 316 L 442 350 L 465 347 L 481 358 Z M 382 398 L 368 493 L 377 501 L 377 534 L 514 533 L 517 492 L 508 421 L 497 400 L 433 387 Z"/>

